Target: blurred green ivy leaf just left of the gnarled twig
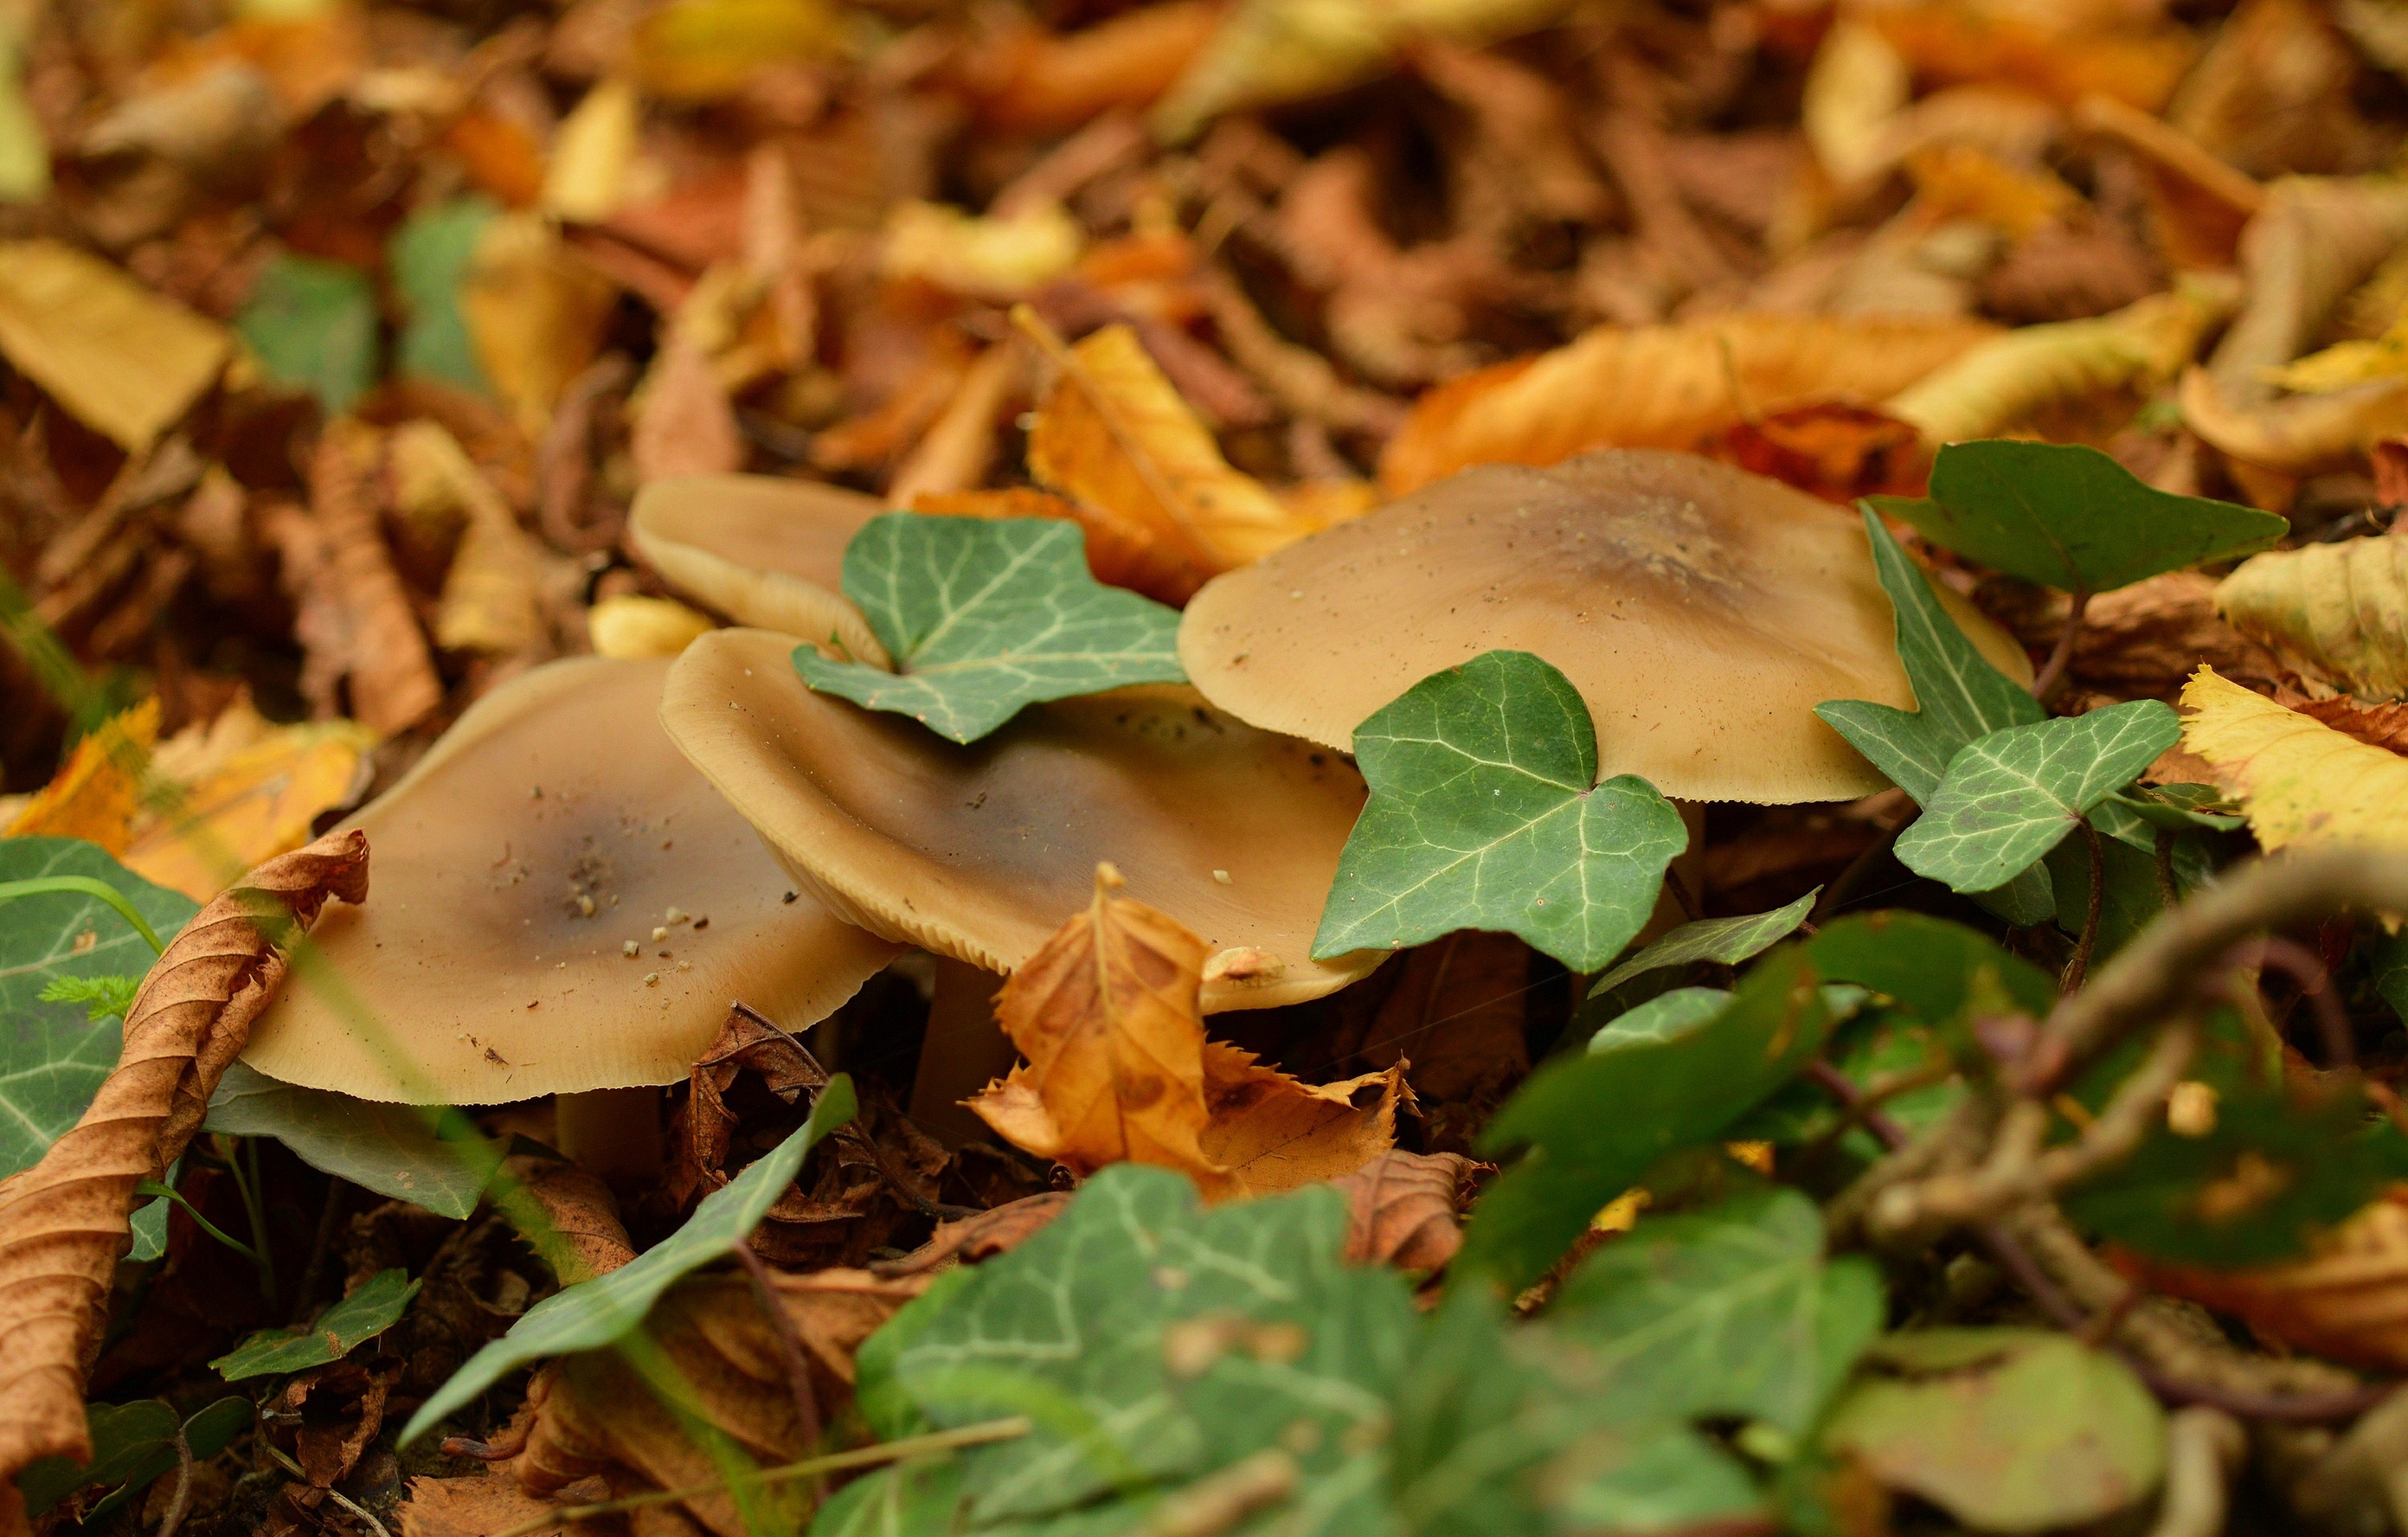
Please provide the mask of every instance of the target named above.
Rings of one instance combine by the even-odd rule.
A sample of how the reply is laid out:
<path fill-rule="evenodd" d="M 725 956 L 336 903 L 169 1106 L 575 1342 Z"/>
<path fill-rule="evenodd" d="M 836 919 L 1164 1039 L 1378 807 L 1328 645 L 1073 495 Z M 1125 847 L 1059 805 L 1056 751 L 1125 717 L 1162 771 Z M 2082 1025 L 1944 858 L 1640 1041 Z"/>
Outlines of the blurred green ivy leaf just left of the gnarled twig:
<path fill-rule="evenodd" d="M 1881 1272 L 1823 1258 L 1796 1190 L 1642 1217 L 1563 1284 L 1548 1323 L 1589 1342 L 1662 1419 L 1731 1414 L 1804 1436 L 1881 1332 Z"/>

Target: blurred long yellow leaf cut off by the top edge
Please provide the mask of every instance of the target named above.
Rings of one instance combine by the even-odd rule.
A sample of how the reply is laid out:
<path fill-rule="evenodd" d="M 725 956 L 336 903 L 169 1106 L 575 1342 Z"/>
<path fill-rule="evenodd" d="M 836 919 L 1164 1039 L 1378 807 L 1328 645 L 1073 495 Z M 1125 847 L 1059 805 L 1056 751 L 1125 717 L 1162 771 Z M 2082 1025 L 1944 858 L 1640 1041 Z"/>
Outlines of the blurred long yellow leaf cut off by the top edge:
<path fill-rule="evenodd" d="M 1192 137 L 1228 111 L 1341 92 L 1413 39 L 1474 48 L 1546 26 L 1568 0 L 1240 0 L 1153 106 L 1153 132 Z"/>

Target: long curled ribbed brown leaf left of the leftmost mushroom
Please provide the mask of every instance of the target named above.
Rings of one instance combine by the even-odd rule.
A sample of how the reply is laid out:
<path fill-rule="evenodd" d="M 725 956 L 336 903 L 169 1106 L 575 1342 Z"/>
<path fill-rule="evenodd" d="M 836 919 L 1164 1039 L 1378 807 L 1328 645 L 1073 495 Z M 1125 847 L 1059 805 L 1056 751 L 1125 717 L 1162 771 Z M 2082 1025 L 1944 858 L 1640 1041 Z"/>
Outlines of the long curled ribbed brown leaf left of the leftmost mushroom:
<path fill-rule="evenodd" d="M 142 980 L 118 1065 L 82 1120 L 0 1183 L 0 1530 L 22 1525 L 26 1462 L 92 1455 L 84 1371 L 135 1185 L 161 1178 L 200 1130 L 226 1062 L 284 983 L 284 925 L 308 928 L 337 896 L 368 896 L 364 834 L 279 855 L 205 906 Z"/>

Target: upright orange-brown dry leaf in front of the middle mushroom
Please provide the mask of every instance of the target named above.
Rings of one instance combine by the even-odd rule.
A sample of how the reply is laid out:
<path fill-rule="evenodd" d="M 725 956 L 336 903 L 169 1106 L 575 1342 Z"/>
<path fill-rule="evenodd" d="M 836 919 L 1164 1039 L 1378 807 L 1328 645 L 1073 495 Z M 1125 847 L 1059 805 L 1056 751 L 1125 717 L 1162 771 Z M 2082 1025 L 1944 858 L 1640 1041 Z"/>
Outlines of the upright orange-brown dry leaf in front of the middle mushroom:
<path fill-rule="evenodd" d="M 1303 1084 L 1206 1041 L 1204 942 L 1117 889 L 1100 865 L 1088 911 L 1004 983 L 997 1021 L 1028 1062 L 968 1101 L 987 1125 L 1074 1173 L 1178 1168 L 1206 1200 L 1353 1173 L 1394 1144 L 1401 1065 Z"/>

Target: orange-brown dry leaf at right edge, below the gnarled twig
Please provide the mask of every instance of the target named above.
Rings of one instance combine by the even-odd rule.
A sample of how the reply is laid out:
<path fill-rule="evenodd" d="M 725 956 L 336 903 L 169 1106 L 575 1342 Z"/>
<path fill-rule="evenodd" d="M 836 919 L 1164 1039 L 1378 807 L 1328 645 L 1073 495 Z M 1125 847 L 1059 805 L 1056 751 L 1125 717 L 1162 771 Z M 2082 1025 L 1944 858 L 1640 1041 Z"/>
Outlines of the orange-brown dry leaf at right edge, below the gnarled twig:
<path fill-rule="evenodd" d="M 2129 1253 L 2114 1258 L 2153 1291 L 2235 1313 L 2300 1349 L 2408 1371 L 2408 1192 L 2394 1190 L 2365 1207 L 2290 1265 L 2206 1270 Z"/>

